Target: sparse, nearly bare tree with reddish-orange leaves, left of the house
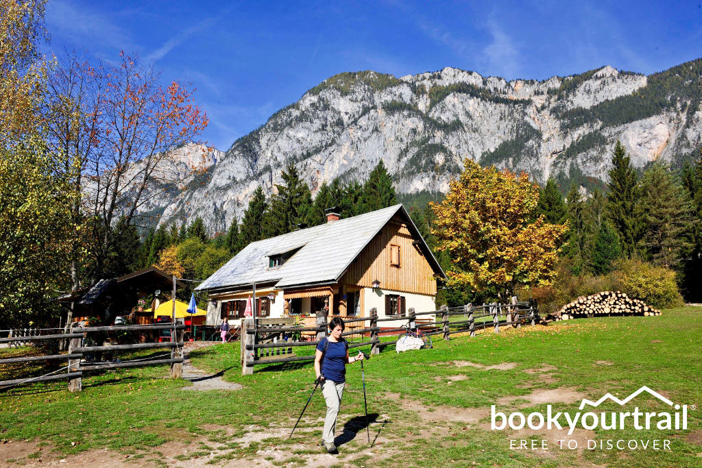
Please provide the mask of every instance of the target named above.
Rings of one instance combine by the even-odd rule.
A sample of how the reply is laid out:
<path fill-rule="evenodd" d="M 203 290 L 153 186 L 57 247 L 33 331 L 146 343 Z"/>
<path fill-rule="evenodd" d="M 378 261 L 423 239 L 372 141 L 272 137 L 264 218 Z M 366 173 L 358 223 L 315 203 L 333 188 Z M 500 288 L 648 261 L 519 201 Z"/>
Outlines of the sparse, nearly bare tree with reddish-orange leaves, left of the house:
<path fill-rule="evenodd" d="M 153 69 L 124 53 L 120 58 L 119 65 L 105 69 L 100 151 L 91 168 L 93 216 L 106 228 L 95 231 L 98 273 L 111 247 L 108 232 L 114 220 L 122 215 L 130 224 L 154 195 L 147 190 L 150 185 L 167 189 L 180 182 L 163 168 L 208 123 L 190 89 L 177 81 L 163 88 Z"/>

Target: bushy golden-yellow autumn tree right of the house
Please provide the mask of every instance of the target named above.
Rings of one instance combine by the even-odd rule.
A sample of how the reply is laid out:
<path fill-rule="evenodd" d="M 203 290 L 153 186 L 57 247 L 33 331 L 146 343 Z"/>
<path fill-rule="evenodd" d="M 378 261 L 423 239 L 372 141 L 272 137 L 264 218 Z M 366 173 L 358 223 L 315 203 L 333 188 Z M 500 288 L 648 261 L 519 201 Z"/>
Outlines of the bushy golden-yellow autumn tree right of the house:
<path fill-rule="evenodd" d="M 437 250 L 451 258 L 447 286 L 509 296 L 518 285 L 552 281 L 568 225 L 550 224 L 543 215 L 530 221 L 538 193 L 527 173 L 482 168 L 465 159 L 444 201 L 430 203 Z"/>

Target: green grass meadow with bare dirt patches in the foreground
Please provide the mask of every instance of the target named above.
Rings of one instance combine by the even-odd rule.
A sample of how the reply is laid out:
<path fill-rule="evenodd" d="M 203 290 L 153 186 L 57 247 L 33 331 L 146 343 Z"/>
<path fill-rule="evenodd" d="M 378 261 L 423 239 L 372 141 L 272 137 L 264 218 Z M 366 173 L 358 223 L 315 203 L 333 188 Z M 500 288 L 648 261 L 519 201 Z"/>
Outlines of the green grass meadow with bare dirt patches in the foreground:
<path fill-rule="evenodd" d="M 312 391 L 310 363 L 257 366 L 254 375 L 241 376 L 237 343 L 191 357 L 195 367 L 243 385 L 239 390 L 184 391 L 190 382 L 164 378 L 168 371 L 160 366 L 88 377 L 80 394 L 66 392 L 65 382 L 0 394 L 0 439 L 11 441 L 0 444 L 0 462 L 702 466 L 701 308 L 487 331 L 450 342 L 438 338 L 434 346 L 403 354 L 386 349 L 364 364 L 372 448 L 358 364 L 347 368 L 340 453 L 328 455 L 317 446 L 324 416 L 319 391 L 287 439 Z M 582 398 L 607 392 L 623 398 L 642 385 L 689 406 L 687 431 L 580 429 L 573 438 L 581 448 L 586 439 L 668 439 L 670 450 L 559 450 L 554 439 L 563 434 L 489 428 L 492 404 L 505 413 L 545 411 L 547 403 L 575 413 Z M 648 394 L 636 403 L 642 410 L 668 408 Z M 603 403 L 600 409 L 621 407 Z M 510 450 L 511 439 L 549 439 L 550 450 Z"/>

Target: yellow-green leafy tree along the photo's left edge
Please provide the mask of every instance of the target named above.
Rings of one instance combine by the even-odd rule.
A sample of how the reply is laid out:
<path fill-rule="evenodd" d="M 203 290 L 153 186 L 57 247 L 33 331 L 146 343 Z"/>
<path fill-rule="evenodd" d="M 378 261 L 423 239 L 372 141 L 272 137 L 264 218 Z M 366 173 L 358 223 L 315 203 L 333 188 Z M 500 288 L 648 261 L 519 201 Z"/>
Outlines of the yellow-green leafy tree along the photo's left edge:
<path fill-rule="evenodd" d="M 44 1 L 0 0 L 0 328 L 44 322 L 64 272 L 75 199 L 46 145 Z"/>

